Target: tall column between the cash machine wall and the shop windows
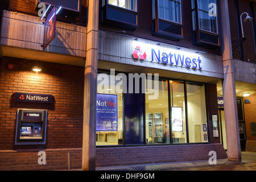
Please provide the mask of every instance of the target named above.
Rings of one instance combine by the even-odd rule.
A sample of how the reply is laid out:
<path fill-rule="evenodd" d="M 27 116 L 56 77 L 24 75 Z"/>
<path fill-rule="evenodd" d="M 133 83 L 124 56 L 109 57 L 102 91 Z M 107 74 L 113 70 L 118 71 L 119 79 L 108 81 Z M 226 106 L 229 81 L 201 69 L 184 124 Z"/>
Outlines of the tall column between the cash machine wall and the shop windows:
<path fill-rule="evenodd" d="M 96 169 L 96 100 L 98 66 L 98 0 L 88 0 L 88 26 L 84 76 L 82 170 Z"/>

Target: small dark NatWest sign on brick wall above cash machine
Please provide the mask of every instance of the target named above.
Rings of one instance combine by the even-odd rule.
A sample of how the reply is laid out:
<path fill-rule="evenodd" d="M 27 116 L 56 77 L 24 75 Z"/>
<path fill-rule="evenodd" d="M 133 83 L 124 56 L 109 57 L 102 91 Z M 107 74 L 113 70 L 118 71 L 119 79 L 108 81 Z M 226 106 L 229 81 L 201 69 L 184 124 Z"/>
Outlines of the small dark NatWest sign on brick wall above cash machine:
<path fill-rule="evenodd" d="M 52 95 L 15 92 L 14 93 L 14 101 L 52 104 Z"/>

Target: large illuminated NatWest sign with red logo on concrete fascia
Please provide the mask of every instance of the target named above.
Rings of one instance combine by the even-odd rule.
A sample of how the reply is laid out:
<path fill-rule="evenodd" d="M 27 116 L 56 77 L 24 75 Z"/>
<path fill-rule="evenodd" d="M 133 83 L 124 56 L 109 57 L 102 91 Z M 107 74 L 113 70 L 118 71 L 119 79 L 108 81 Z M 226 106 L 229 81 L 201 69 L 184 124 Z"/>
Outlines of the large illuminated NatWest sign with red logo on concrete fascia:
<path fill-rule="evenodd" d="M 192 69 L 202 69 L 202 60 L 196 53 L 188 53 L 183 51 L 176 51 L 174 49 L 154 49 L 151 48 L 151 52 L 144 51 L 141 46 L 137 46 L 133 52 L 133 58 L 139 60 L 146 60 L 147 55 L 151 55 L 152 62 L 158 62 L 162 64 L 169 64 L 174 66 L 180 66 Z"/>

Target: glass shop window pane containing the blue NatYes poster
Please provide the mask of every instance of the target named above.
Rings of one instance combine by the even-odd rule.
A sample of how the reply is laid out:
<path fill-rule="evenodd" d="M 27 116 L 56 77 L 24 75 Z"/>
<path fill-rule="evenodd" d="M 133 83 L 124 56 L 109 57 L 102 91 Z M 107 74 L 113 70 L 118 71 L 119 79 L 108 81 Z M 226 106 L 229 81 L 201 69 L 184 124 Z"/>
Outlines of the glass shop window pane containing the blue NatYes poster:
<path fill-rule="evenodd" d="M 117 81 L 115 80 L 122 80 L 121 77 L 98 73 L 97 146 L 123 144 L 123 90 L 122 85 L 116 86 Z"/>

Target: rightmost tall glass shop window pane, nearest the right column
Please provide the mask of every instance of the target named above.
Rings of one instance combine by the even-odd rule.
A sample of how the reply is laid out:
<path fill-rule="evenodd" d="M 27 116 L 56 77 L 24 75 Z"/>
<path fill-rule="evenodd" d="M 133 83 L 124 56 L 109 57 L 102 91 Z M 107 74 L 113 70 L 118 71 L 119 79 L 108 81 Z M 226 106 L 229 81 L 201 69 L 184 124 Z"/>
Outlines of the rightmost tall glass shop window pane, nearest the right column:
<path fill-rule="evenodd" d="M 204 85 L 187 82 L 186 86 L 189 143 L 208 142 Z"/>

